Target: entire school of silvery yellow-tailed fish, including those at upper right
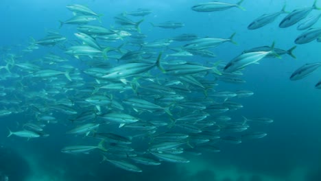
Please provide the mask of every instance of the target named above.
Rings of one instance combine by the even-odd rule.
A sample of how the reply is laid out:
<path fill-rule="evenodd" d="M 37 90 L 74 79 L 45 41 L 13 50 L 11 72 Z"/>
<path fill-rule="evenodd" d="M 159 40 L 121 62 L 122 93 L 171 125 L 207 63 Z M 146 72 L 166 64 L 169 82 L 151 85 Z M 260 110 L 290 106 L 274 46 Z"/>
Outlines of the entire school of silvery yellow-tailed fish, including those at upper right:
<path fill-rule="evenodd" d="M 242 2 L 210 1 L 187 8 L 199 13 L 245 10 Z M 259 29 L 287 14 L 280 28 L 298 23 L 298 30 L 306 29 L 295 44 L 321 41 L 321 27 L 310 28 L 321 14 L 306 18 L 312 10 L 320 10 L 316 3 L 292 12 L 284 5 L 280 12 L 254 19 L 248 29 Z M 58 151 L 101 154 L 103 162 L 141 172 L 139 165 L 186 163 L 189 154 L 220 152 L 222 144 L 267 136 L 251 125 L 272 123 L 268 115 L 232 119 L 233 112 L 243 108 L 239 102 L 254 94 L 242 89 L 246 82 L 242 71 L 264 58 L 296 58 L 296 45 L 283 50 L 272 43 L 244 50 L 228 62 L 195 62 L 191 58 L 215 58 L 213 49 L 223 43 L 237 44 L 235 34 L 225 38 L 180 34 L 146 42 L 140 25 L 145 23 L 144 16 L 152 14 L 150 9 L 120 12 L 114 17 L 118 26 L 109 28 L 102 25 L 102 14 L 85 5 L 66 8 L 73 16 L 60 21 L 59 28 L 76 26 L 74 37 L 57 29 L 38 40 L 32 38 L 20 54 L 2 49 L 0 117 L 25 114 L 27 118 L 19 128 L 8 128 L 8 137 L 45 138 L 50 136 L 47 128 L 61 124 L 67 128 L 65 134 L 77 136 L 78 142 Z M 153 28 L 185 27 L 178 21 L 150 24 Z M 112 47 L 112 43 L 119 46 Z M 46 52 L 47 47 L 52 51 Z M 42 57 L 24 58 L 38 49 L 44 49 Z M 300 80 L 319 67 L 321 62 L 304 64 L 289 79 Z M 221 82 L 238 84 L 239 89 L 222 90 Z M 316 88 L 321 89 L 321 80 Z"/>

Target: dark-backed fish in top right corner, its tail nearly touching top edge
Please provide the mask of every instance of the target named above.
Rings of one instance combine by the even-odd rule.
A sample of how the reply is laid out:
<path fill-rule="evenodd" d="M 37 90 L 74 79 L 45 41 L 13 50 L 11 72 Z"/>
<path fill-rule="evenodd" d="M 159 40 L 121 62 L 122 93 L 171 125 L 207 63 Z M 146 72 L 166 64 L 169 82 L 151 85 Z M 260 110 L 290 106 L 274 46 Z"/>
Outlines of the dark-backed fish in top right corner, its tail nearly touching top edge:
<path fill-rule="evenodd" d="M 321 8 L 318 8 L 316 6 L 318 0 L 315 0 L 313 5 L 309 8 L 302 8 L 298 10 L 293 10 L 285 18 L 281 21 L 281 23 L 278 25 L 278 27 L 285 28 L 285 27 L 290 27 L 298 21 L 301 21 L 302 19 L 305 19 L 307 15 L 312 11 L 312 10 L 321 10 Z"/>

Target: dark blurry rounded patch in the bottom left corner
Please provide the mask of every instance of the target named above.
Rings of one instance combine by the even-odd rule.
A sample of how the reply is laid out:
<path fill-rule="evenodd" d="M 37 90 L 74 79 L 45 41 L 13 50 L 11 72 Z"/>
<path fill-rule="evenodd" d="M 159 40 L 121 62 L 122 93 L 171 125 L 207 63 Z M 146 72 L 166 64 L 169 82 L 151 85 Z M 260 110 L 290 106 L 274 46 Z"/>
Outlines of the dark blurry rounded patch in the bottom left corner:
<path fill-rule="evenodd" d="M 10 181 L 22 181 L 29 175 L 27 161 L 12 149 L 0 147 L 0 172 Z"/>

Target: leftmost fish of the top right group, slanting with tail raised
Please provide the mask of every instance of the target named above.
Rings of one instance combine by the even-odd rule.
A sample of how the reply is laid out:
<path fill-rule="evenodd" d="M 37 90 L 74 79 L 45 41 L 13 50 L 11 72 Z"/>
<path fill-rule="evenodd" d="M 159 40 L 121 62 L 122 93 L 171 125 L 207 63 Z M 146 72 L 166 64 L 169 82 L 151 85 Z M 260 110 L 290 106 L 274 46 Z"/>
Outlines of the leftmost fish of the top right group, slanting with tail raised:
<path fill-rule="evenodd" d="M 259 18 L 254 19 L 250 25 L 248 25 L 248 29 L 259 29 L 260 27 L 263 27 L 265 25 L 268 25 L 269 23 L 272 23 L 275 21 L 275 19 L 280 16 L 281 14 L 288 13 L 285 11 L 285 5 L 283 5 L 283 8 L 279 12 L 274 12 L 270 14 L 263 14 L 262 16 L 259 16 Z"/>

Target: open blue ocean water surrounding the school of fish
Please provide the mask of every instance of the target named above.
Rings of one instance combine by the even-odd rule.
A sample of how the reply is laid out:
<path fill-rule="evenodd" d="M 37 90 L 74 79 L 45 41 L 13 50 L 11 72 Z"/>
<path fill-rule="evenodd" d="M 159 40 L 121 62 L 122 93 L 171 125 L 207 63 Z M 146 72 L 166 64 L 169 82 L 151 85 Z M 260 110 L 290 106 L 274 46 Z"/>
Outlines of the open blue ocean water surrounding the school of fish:
<path fill-rule="evenodd" d="M 69 64 L 84 69 L 86 64 L 80 60 L 63 54 L 58 47 L 43 47 L 34 49 L 31 53 L 23 53 L 23 49 L 32 42 L 30 37 L 38 40 L 47 35 L 47 31 L 56 29 L 66 36 L 69 41 L 76 40 L 73 36 L 78 32 L 76 25 L 59 27 L 59 20 L 67 20 L 73 16 L 66 5 L 80 3 L 102 16 L 102 26 L 117 27 L 114 16 L 122 12 L 130 12 L 137 8 L 148 8 L 152 14 L 141 17 L 128 16 L 135 22 L 141 23 L 141 32 L 147 36 L 146 41 L 170 38 L 180 34 L 197 34 L 200 37 L 228 38 L 236 33 L 234 40 L 238 45 L 224 43 L 215 47 L 213 52 L 217 58 L 201 58 L 193 56 L 194 62 L 229 62 L 246 49 L 264 45 L 289 49 L 301 33 L 296 25 L 281 29 L 278 23 L 285 14 L 281 14 L 274 23 L 260 29 L 247 29 L 254 19 L 261 14 L 278 12 L 286 3 L 286 10 L 292 11 L 307 8 L 313 4 L 309 1 L 250 1 L 241 3 L 245 11 L 239 8 L 219 12 L 195 12 L 191 7 L 206 1 L 1 1 L 1 60 L 0 66 L 5 65 L 5 58 L 10 55 L 21 56 L 20 62 L 32 62 L 43 58 L 47 53 L 58 53 L 69 58 Z M 236 3 L 236 1 L 229 1 Z M 318 2 L 317 5 L 321 6 Z M 309 16 L 320 14 L 313 10 Z M 152 27 L 149 22 L 162 23 L 178 21 L 185 24 L 178 29 L 162 29 Z M 93 23 L 99 24 L 99 23 Z M 320 27 L 317 23 L 314 27 Z M 70 39 L 69 39 L 70 38 Z M 127 38 L 110 43 L 116 47 Z M 176 43 L 173 46 L 181 46 Z M 109 162 L 101 162 L 99 152 L 90 154 L 64 154 L 60 152 L 67 145 L 91 144 L 84 135 L 74 136 L 65 134 L 75 128 L 64 114 L 57 114 L 58 123 L 48 124 L 45 132 L 49 134 L 42 138 L 20 138 L 8 136 L 8 129 L 22 130 L 23 124 L 36 121 L 31 113 L 32 101 L 22 96 L 21 92 L 28 91 L 41 94 L 45 85 L 37 82 L 26 82 L 23 77 L 14 81 L 2 80 L 1 86 L 14 87 L 8 90 L 8 95 L 0 97 L 1 110 L 19 108 L 19 113 L 0 117 L 0 180 L 8 176 L 9 180 L 321 180 L 321 96 L 320 89 L 314 85 L 320 81 L 320 69 L 309 77 L 298 81 L 290 81 L 290 75 L 306 63 L 320 62 L 320 44 L 316 41 L 298 45 L 294 50 L 296 59 L 290 56 L 267 58 L 259 64 L 253 64 L 243 70 L 244 84 L 218 82 L 215 90 L 252 90 L 254 95 L 239 99 L 243 105 L 240 110 L 228 114 L 235 121 L 243 121 L 246 117 L 270 117 L 274 122 L 268 125 L 251 125 L 253 130 L 268 133 L 268 136 L 250 141 L 242 141 L 238 145 L 222 144 L 221 152 L 204 152 L 201 156 L 186 156 L 189 163 L 162 162 L 158 166 L 139 165 L 143 170 L 134 173 L 119 169 Z M 159 50 L 151 50 L 159 51 Z M 3 75 L 5 69 L 0 70 Z M 14 73 L 21 73 L 15 71 Z M 26 74 L 23 74 L 25 76 Z M 1 76 L 0 76 L 1 77 Z M 64 77 L 61 80 L 67 81 Z M 36 82 L 36 81 L 35 81 Z M 29 88 L 22 88 L 21 85 Z M 18 93 L 19 94 L 16 94 Z M 116 94 L 119 97 L 121 94 Z M 58 97 L 56 97 L 58 99 Z M 121 97 L 122 98 L 122 97 Z M 18 103 L 5 101 L 19 100 Z M 37 100 L 37 99 L 36 99 Z M 43 104 L 43 108 L 47 105 Z M 21 111 L 20 111 L 21 110 Z M 56 114 L 52 111 L 53 114 Z M 149 114 L 150 119 L 157 115 Z M 115 127 L 114 129 L 118 129 Z M 122 132 L 112 130 L 112 132 Z M 139 139 L 138 144 L 144 144 L 147 139 Z M 96 144 L 96 143 L 95 143 Z M 1 180 L 2 181 L 2 180 Z"/>

